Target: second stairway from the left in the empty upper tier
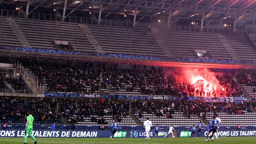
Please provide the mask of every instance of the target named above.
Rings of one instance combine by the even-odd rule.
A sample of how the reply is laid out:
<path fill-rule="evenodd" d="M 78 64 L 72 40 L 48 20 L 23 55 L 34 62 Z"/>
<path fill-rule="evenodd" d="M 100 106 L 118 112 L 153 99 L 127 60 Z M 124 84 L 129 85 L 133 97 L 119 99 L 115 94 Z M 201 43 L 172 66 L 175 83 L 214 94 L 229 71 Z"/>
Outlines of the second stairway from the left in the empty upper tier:
<path fill-rule="evenodd" d="M 84 31 L 86 37 L 88 38 L 92 46 L 95 48 L 96 52 L 104 53 L 104 50 L 102 49 L 98 41 L 95 39 L 95 37 L 92 35 L 90 30 L 87 28 L 87 26 L 85 24 L 78 24 L 78 26 Z"/>

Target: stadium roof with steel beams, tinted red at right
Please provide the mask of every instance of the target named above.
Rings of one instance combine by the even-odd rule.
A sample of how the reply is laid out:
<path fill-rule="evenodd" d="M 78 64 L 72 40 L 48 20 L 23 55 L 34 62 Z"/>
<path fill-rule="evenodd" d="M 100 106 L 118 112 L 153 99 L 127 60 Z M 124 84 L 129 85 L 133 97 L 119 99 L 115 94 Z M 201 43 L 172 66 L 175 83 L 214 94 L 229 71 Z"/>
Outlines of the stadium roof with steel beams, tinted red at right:
<path fill-rule="evenodd" d="M 141 16 L 166 16 L 175 22 L 179 18 L 223 20 L 226 18 L 242 19 L 251 16 L 256 10 L 256 0 L 0 0 L 5 3 L 26 4 L 30 1 L 31 6 L 69 10 L 81 10 L 129 14 Z"/>

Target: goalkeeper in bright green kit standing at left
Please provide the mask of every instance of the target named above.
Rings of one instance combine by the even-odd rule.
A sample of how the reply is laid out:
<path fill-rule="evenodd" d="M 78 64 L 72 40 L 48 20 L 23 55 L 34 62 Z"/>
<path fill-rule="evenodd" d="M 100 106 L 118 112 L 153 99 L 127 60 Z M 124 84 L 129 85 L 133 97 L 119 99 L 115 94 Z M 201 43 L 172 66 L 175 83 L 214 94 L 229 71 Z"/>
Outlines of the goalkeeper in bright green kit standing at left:
<path fill-rule="evenodd" d="M 25 129 L 25 134 L 24 134 L 24 143 L 27 144 L 27 134 L 34 140 L 34 144 L 36 144 L 36 139 L 32 135 L 33 131 L 33 122 L 34 122 L 34 117 L 32 116 L 32 112 L 29 112 L 29 116 L 27 116 L 27 123 L 26 123 L 26 129 Z"/>

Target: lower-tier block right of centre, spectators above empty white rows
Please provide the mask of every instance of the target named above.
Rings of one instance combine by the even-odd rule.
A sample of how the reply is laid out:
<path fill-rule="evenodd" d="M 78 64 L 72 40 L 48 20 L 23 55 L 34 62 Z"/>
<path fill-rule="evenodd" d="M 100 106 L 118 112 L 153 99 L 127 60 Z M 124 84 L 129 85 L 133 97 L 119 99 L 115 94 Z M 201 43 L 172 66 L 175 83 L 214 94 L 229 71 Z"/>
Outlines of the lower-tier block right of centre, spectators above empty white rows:
<path fill-rule="evenodd" d="M 173 104 L 172 104 L 173 103 Z M 136 101 L 132 106 L 134 115 L 144 122 L 147 118 L 152 120 L 153 125 L 161 126 L 192 126 L 200 122 L 193 111 L 197 107 L 186 106 L 180 102 L 143 102 Z"/>

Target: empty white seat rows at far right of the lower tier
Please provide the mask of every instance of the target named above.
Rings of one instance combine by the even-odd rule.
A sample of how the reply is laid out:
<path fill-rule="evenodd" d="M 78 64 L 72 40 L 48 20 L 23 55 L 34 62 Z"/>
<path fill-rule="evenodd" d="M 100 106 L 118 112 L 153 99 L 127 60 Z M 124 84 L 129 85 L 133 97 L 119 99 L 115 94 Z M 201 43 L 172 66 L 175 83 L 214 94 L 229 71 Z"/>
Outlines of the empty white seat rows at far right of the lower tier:
<path fill-rule="evenodd" d="M 224 112 L 217 113 L 221 119 L 221 126 L 255 126 L 256 113 L 246 112 L 244 114 L 226 114 Z M 213 117 L 213 112 L 206 113 L 206 120 L 210 122 Z"/>

